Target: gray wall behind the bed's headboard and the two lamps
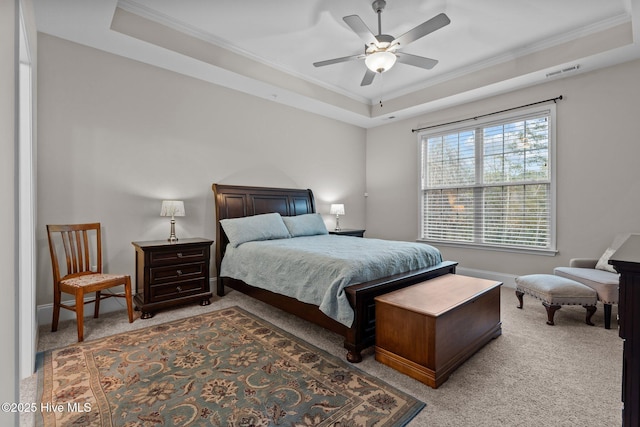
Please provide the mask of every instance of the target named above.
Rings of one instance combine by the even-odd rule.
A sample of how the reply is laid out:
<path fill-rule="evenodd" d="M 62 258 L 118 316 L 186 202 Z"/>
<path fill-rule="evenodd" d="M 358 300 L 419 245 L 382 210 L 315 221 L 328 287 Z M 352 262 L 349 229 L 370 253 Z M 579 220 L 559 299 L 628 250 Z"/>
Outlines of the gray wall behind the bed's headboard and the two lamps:
<path fill-rule="evenodd" d="M 106 269 L 133 276 L 131 242 L 169 236 L 162 199 L 185 201 L 178 238 L 215 238 L 212 183 L 311 188 L 328 227 L 335 201 L 364 226 L 364 129 L 45 34 L 38 51 L 37 304 L 46 224 L 101 222 Z"/>

